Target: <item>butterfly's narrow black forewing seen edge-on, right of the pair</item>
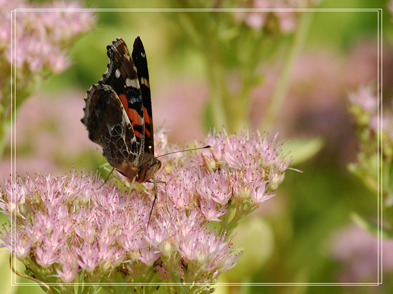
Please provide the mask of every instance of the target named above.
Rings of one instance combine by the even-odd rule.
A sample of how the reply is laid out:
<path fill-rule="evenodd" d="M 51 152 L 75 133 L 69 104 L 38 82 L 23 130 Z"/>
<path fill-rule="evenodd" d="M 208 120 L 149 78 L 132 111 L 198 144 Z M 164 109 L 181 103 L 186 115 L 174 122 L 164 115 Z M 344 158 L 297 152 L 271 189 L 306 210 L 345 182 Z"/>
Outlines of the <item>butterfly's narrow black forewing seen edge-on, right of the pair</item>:
<path fill-rule="evenodd" d="M 143 117 L 144 117 L 144 155 L 154 156 L 154 134 L 153 134 L 153 115 L 151 110 L 151 94 L 149 71 L 147 69 L 146 52 L 144 51 L 140 37 L 134 41 L 132 59 L 137 68 L 140 92 L 143 101 Z"/>

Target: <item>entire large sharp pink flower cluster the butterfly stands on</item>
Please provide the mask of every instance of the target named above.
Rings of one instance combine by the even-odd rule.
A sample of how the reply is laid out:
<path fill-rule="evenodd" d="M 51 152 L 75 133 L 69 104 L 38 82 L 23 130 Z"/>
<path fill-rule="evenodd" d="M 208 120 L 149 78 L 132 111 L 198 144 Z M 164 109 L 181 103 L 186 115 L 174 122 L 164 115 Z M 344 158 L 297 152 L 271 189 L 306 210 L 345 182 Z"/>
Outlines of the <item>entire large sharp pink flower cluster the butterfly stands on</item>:
<path fill-rule="evenodd" d="M 168 151 L 165 132 L 156 140 L 159 153 Z M 12 219 L 1 246 L 45 283 L 82 274 L 93 283 L 181 283 L 172 286 L 178 293 L 215 283 L 241 256 L 229 232 L 273 196 L 290 160 L 277 136 L 269 143 L 258 133 L 213 131 L 204 144 L 213 147 L 161 157 L 157 178 L 166 183 L 131 191 L 75 171 L 16 176 L 0 190 L 0 209 Z"/>

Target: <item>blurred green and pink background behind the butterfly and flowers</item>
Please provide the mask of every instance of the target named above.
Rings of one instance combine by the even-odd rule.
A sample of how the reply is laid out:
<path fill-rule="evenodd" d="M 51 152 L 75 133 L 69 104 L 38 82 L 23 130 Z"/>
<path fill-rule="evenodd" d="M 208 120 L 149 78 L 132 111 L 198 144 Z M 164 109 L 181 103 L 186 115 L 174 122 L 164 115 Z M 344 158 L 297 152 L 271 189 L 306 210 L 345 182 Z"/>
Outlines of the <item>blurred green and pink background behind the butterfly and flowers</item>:
<path fill-rule="evenodd" d="M 215 2 L 205 2 L 197 1 L 195 6 L 187 6 L 186 1 L 100 0 L 85 1 L 84 5 L 102 9 L 214 7 Z M 238 7 L 238 3 L 232 2 L 228 1 L 228 7 Z M 393 93 L 393 17 L 388 5 L 389 1 L 383 0 L 325 0 L 315 6 L 383 8 L 382 91 L 386 105 Z M 269 116 L 266 112 L 270 111 L 270 99 L 277 91 L 287 53 L 294 46 L 295 32 L 272 32 L 270 35 L 265 32 L 264 47 L 256 48 L 253 53 L 255 64 L 246 59 L 252 67 L 251 78 L 255 78 L 247 89 L 249 105 L 245 109 L 249 111 L 240 118 L 233 114 L 224 120 L 231 121 L 231 126 L 225 125 L 227 131 L 258 128 L 260 132 L 268 131 L 271 137 L 280 132 L 281 141 L 289 140 L 284 148 L 294 158 L 292 167 L 303 173 L 288 170 L 276 196 L 240 225 L 233 242 L 236 248 L 243 248 L 244 256 L 219 281 L 304 285 L 226 285 L 218 286 L 216 293 L 393 293 L 392 243 L 384 247 L 386 261 L 382 286 L 306 285 L 378 282 L 377 241 L 369 242 L 373 237 L 360 229 L 357 231 L 351 220 L 352 213 L 377 220 L 378 203 L 376 195 L 347 170 L 347 164 L 356 161 L 358 140 L 346 111 L 349 92 L 360 85 L 377 82 L 378 23 L 375 11 L 305 13 L 312 15 L 304 41 L 294 53 L 283 101 L 274 119 L 265 124 L 268 129 L 261 126 L 264 117 Z M 247 55 L 250 44 L 247 40 L 240 43 L 244 48 L 200 46 L 218 46 L 221 43 L 214 42 L 215 38 L 225 39 L 223 35 L 227 34 L 230 39 L 231 33 L 242 35 L 246 30 L 251 40 L 257 39 L 258 30 L 236 21 L 233 21 L 236 29 L 228 25 L 227 20 L 234 12 L 102 10 L 95 14 L 96 28 L 72 47 L 73 65 L 47 80 L 18 111 L 16 171 L 21 175 L 40 171 L 58 174 L 69 171 L 71 166 L 89 171 L 106 162 L 98 146 L 88 140 L 80 119 L 85 91 L 105 72 L 108 62 L 105 48 L 117 37 L 122 37 L 129 47 L 136 36 L 142 39 L 149 65 L 154 125 L 170 131 L 170 143 L 193 145 L 194 139 L 199 141 L 212 123 L 220 121 L 212 114 L 216 108 L 209 101 L 214 92 L 214 73 L 209 65 L 213 66 L 215 61 L 210 63 L 212 56 L 207 55 L 228 54 L 222 56 L 228 95 L 236 96 L 238 80 L 246 77 L 247 81 L 249 77 L 248 67 L 238 64 L 242 61 L 242 53 Z M 207 21 L 210 19 L 213 21 Z M 188 21 L 198 20 L 204 22 L 193 28 L 196 30 L 193 35 L 185 26 Z M 216 27 L 209 27 L 213 25 Z M 220 32 L 223 34 L 218 36 Z M 217 127 L 220 129 L 219 125 Z M 10 146 L 0 167 L 7 178 Z M 6 218 L 1 215 L 1 220 L 4 223 Z M 371 245 L 367 247 L 365 243 Z M 1 254 L 0 260 L 2 293 L 42 293 L 38 287 L 7 288 L 8 255 Z"/>

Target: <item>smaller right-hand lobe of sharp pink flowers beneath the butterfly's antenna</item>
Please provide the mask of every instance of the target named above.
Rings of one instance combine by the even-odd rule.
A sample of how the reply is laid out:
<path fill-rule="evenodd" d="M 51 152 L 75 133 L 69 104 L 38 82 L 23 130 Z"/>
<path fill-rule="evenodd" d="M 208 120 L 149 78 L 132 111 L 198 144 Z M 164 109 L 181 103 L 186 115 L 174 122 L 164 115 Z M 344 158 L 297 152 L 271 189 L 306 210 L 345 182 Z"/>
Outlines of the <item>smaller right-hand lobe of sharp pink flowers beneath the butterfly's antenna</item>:
<path fill-rule="evenodd" d="M 158 178 L 167 185 L 160 185 L 159 190 L 165 197 L 167 189 L 170 202 L 177 208 L 197 206 L 206 220 L 221 222 L 230 232 L 258 204 L 274 195 L 291 160 L 281 155 L 277 135 L 269 142 L 259 133 L 228 135 L 225 130 L 221 134 L 213 130 L 204 143 L 213 147 L 190 157 L 178 153 L 175 160 L 160 158 L 164 169 Z"/>

